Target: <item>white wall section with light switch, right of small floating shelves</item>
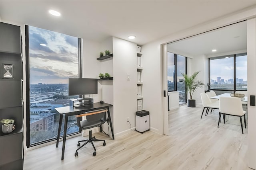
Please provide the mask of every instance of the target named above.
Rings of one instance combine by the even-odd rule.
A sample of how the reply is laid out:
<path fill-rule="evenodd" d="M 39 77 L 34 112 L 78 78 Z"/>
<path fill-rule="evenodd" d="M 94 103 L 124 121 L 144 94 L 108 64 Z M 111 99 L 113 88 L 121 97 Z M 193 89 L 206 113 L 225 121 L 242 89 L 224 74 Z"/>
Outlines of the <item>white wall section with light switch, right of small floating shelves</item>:
<path fill-rule="evenodd" d="M 137 111 L 136 50 L 135 43 L 113 37 L 113 125 L 114 133 L 117 136 L 124 133 L 124 131 L 130 131 L 126 117 L 130 118 L 131 127 L 135 126 L 135 113 Z M 126 74 L 130 74 L 130 80 L 127 80 Z"/>

